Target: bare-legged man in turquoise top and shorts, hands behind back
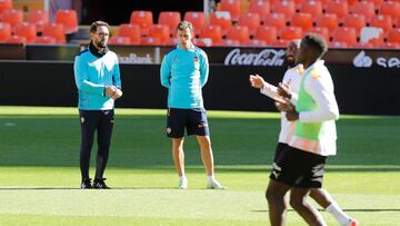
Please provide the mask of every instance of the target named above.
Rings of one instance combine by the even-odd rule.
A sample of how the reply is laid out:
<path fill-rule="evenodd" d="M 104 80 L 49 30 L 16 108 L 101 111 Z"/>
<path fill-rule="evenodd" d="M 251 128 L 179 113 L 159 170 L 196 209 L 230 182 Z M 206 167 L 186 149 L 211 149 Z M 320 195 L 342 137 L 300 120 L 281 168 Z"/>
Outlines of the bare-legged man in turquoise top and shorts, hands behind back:
<path fill-rule="evenodd" d="M 188 188 L 184 175 L 183 140 L 196 135 L 201 160 L 208 176 L 207 188 L 224 188 L 213 176 L 213 157 L 201 88 L 206 85 L 209 63 L 203 50 L 191 42 L 193 26 L 188 21 L 178 24 L 178 46 L 168 52 L 161 65 L 161 85 L 168 88 L 167 136 L 172 138 L 172 157 L 179 175 L 180 189 Z"/>

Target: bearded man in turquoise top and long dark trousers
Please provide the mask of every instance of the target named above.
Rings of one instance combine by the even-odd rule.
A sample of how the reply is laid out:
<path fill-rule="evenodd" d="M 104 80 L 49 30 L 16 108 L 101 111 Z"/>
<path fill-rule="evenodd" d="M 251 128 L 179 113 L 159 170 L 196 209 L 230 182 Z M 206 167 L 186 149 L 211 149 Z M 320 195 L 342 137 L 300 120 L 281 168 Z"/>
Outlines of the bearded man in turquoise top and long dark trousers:
<path fill-rule="evenodd" d="M 90 45 L 74 60 L 74 80 L 79 94 L 81 124 L 81 188 L 109 188 L 103 178 L 114 122 L 114 100 L 122 96 L 117 55 L 107 42 L 109 24 L 96 21 L 90 26 Z M 93 184 L 89 177 L 90 153 L 97 130 L 98 154 Z"/>

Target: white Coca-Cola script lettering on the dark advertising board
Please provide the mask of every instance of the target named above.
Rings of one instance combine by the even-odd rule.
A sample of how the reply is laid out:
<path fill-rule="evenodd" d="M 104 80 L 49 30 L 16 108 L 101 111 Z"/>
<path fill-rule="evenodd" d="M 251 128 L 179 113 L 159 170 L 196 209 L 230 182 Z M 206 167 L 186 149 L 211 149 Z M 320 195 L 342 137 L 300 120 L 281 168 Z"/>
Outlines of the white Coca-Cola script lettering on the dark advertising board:
<path fill-rule="evenodd" d="M 263 49 L 258 53 L 241 53 L 240 49 L 232 49 L 226 57 L 224 65 L 279 67 L 284 62 L 284 53 L 282 49 Z"/>

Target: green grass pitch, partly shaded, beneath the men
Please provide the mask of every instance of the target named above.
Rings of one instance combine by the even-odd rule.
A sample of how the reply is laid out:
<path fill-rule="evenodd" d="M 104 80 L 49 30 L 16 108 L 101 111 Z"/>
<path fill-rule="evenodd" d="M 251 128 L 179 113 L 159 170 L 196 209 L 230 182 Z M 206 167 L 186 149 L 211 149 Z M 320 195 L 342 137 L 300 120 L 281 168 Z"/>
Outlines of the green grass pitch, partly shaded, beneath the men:
<path fill-rule="evenodd" d="M 184 146 L 189 189 L 176 189 L 164 110 L 116 114 L 106 170 L 113 189 L 81 190 L 77 109 L 0 106 L 0 225 L 269 225 L 278 114 L 208 112 L 216 176 L 227 190 L 204 189 L 193 137 Z M 324 188 L 361 225 L 399 225 L 400 117 L 342 116 L 337 126 Z M 288 225 L 306 224 L 290 210 Z"/>

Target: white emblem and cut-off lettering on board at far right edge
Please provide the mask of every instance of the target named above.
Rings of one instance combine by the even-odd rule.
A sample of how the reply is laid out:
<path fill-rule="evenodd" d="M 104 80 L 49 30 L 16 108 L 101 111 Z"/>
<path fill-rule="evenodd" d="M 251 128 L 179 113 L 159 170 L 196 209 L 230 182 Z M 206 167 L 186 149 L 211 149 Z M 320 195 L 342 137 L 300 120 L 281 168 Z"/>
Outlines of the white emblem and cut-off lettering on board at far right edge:
<path fill-rule="evenodd" d="M 370 68 L 373 63 L 373 60 L 371 57 L 366 55 L 366 51 L 360 51 L 354 59 L 353 65 L 357 68 Z M 384 57 L 378 57 L 376 60 L 376 63 L 383 68 L 400 68 L 400 59 L 397 57 L 392 58 L 384 58 Z"/>

